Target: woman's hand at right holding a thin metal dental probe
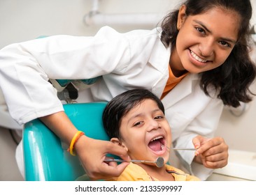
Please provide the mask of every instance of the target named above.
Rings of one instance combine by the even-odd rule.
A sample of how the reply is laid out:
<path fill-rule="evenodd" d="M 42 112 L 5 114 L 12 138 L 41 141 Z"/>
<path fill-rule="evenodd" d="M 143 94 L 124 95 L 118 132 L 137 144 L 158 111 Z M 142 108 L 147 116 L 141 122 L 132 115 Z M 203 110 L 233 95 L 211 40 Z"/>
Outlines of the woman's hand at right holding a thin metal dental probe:
<path fill-rule="evenodd" d="M 208 139 L 197 136 L 194 137 L 193 143 L 194 148 L 197 148 L 195 162 L 204 164 L 209 169 L 219 169 L 227 165 L 228 146 L 221 137 Z"/>

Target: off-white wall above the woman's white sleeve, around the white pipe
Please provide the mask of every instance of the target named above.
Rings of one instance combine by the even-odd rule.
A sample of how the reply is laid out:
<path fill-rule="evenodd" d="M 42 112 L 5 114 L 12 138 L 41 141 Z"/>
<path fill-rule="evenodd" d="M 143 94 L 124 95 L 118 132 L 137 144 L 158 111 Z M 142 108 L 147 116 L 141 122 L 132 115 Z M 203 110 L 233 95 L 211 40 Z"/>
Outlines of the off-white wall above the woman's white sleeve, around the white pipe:
<path fill-rule="evenodd" d="M 178 0 L 100 0 L 101 13 L 166 13 Z M 1 0 L 0 48 L 38 36 L 70 34 L 94 35 L 100 26 L 86 26 L 83 17 L 92 0 Z M 153 28 L 155 26 L 147 26 Z M 134 26 L 113 26 L 118 31 Z"/>

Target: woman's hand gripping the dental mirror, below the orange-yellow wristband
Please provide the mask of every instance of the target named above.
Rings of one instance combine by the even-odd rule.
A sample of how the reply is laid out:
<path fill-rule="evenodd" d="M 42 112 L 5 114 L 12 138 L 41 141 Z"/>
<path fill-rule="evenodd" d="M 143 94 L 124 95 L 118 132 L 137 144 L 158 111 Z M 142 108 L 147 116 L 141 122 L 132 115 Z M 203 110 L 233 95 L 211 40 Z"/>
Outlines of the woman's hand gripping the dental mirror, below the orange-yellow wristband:
<path fill-rule="evenodd" d="M 107 154 L 113 154 L 129 161 L 127 150 L 111 141 L 102 141 L 82 136 L 76 142 L 76 154 L 91 180 L 118 177 L 129 162 L 104 162 Z"/>

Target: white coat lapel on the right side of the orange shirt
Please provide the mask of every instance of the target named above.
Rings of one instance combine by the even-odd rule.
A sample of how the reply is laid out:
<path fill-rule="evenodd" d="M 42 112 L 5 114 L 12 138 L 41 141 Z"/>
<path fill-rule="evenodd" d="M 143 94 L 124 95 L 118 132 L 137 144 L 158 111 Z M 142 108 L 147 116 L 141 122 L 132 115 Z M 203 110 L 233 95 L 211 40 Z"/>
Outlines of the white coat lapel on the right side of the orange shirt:
<path fill-rule="evenodd" d="M 167 109 L 171 107 L 173 104 L 176 104 L 179 100 L 182 100 L 187 95 L 192 93 L 192 88 L 194 84 L 197 84 L 195 80 L 198 80 L 198 75 L 189 74 L 187 75 L 180 83 L 173 88 L 165 97 L 162 99 L 164 103 L 164 107 Z"/>

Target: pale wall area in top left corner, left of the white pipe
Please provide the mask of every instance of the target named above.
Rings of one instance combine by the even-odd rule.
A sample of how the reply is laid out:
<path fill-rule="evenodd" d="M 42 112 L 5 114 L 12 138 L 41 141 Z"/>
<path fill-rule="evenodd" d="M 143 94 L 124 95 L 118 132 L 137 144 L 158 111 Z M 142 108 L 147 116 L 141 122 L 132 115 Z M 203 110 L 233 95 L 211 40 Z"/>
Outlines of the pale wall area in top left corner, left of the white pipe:
<path fill-rule="evenodd" d="M 83 15 L 89 7 L 86 0 L 1 0 L 0 46 L 42 35 L 83 35 Z"/>

